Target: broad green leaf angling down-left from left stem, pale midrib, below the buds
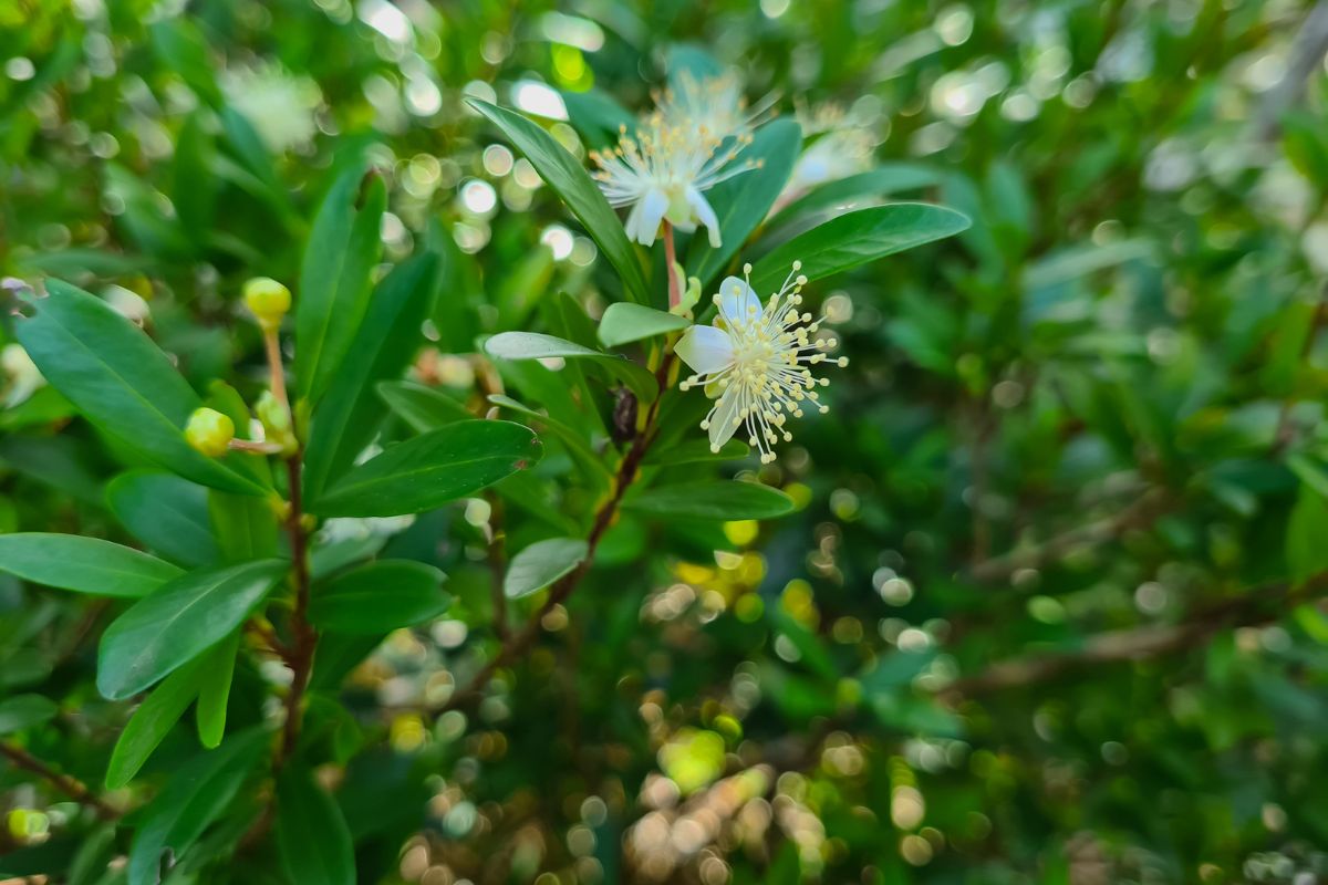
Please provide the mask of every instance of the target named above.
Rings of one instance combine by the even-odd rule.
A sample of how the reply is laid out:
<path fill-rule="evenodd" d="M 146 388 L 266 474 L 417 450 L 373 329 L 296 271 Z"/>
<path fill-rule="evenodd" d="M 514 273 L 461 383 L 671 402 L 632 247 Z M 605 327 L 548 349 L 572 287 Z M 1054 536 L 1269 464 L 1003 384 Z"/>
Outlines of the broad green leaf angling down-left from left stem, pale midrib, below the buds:
<path fill-rule="evenodd" d="M 120 701 L 189 663 L 239 628 L 290 569 L 284 560 L 202 569 L 158 588 L 101 637 L 97 689 Z"/>

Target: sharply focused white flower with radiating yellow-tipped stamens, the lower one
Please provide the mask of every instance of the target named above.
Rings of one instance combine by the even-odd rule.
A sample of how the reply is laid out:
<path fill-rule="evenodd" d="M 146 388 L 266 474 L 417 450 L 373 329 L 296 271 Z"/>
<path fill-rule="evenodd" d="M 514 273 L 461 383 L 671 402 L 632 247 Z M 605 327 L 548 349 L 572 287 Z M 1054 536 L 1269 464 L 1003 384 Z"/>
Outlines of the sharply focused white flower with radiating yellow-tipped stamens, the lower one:
<path fill-rule="evenodd" d="M 823 352 L 838 342 L 814 340 L 821 320 L 813 322 L 810 313 L 798 313 L 799 293 L 807 281 L 795 276 L 799 269 L 802 263 L 794 261 L 784 285 L 762 306 L 752 289 L 748 264 L 742 268 L 748 279 L 730 276 L 720 285 L 714 325 L 691 326 L 673 348 L 696 372 L 680 387 L 705 386 L 706 394 L 717 398 L 701 422 L 710 434 L 710 451 L 718 451 L 738 427 L 745 427 L 748 444 L 760 450 L 761 463 L 770 463 L 780 437 L 793 439 L 784 426 L 789 415 L 802 417 L 803 401 L 829 411 L 814 387 L 830 381 L 813 377 L 807 366 L 825 362 Z M 849 365 L 845 357 L 831 362 Z"/>

